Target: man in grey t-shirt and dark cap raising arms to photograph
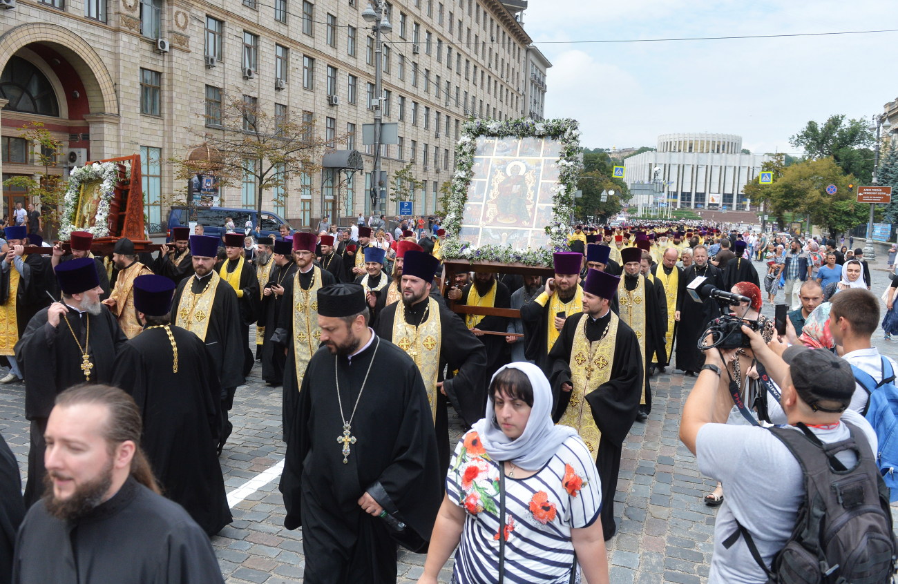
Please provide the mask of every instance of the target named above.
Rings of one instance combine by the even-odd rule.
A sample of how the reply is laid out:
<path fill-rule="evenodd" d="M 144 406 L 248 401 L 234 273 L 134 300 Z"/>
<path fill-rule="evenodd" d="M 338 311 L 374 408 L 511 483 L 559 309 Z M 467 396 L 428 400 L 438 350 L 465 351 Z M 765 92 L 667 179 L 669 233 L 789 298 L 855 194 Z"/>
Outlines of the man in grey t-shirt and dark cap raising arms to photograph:
<path fill-rule="evenodd" d="M 805 423 L 821 441 L 832 443 L 849 437 L 848 422 L 859 430 L 855 440 L 867 440 L 876 452 L 873 428 L 847 409 L 855 389 L 848 362 L 829 351 L 801 345 L 789 347 L 780 358 L 773 349 L 779 352 L 785 345 L 774 341 L 768 347 L 748 327 L 743 332 L 752 339 L 758 361 L 782 388 L 780 401 L 790 426 Z M 731 356 L 725 355 L 726 362 Z M 752 535 L 770 567 L 795 527 L 805 496 L 804 476 L 797 459 L 770 431 L 713 423 L 718 402 L 731 399 L 719 383 L 724 362 L 718 350 L 705 352 L 705 365 L 683 406 L 680 439 L 698 458 L 701 473 L 720 481 L 726 495 L 714 527 L 709 584 L 763 584 L 767 574 L 754 561 L 744 537 L 729 548 L 723 542 L 735 533 L 738 522 Z M 852 450 L 836 456 L 845 466 L 856 461 Z"/>

